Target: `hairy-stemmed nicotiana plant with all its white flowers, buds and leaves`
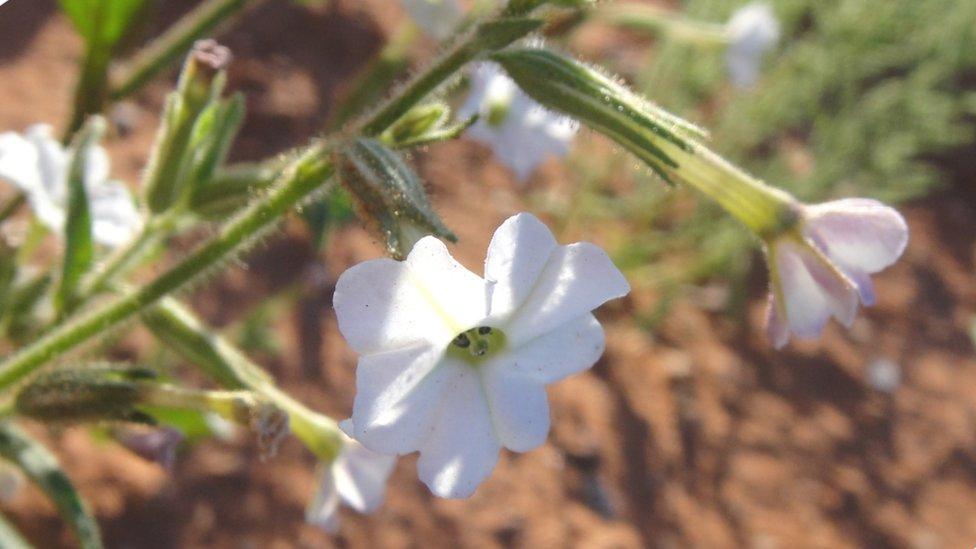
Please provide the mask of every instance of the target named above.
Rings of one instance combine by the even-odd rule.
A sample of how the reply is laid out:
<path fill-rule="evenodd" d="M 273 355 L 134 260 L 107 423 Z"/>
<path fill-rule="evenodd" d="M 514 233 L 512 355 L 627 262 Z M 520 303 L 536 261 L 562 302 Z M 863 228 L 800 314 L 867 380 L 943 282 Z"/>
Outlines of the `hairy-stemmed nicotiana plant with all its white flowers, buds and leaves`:
<path fill-rule="evenodd" d="M 667 184 L 701 191 L 755 233 L 769 258 L 777 347 L 790 332 L 816 336 L 830 316 L 849 324 L 858 301 L 874 302 L 869 275 L 905 248 L 907 227 L 891 208 L 866 199 L 804 205 L 709 150 L 701 128 L 534 39 L 558 32 L 554 21 L 581 22 L 602 9 L 584 0 L 479 2 L 469 13 L 452 0 L 405 1 L 431 37 L 444 39 L 436 59 L 386 92 L 409 42 L 409 33 L 398 34 L 403 41 L 391 42 L 337 107 L 332 131 L 263 162 L 228 164 L 244 102 L 224 90 L 230 52 L 195 40 L 247 4 L 203 2 L 122 61 L 116 45 L 142 2 L 63 0 L 87 44 L 65 138 L 56 141 L 46 126 L 0 135 L 0 177 L 19 193 L 0 219 L 12 222 L 29 203 L 28 216 L 62 243 L 59 261 L 35 253 L 37 238 L 4 244 L 0 330 L 15 350 L 0 361 L 8 396 L 0 456 L 51 497 L 82 546 L 101 545 L 97 525 L 54 456 L 16 426 L 19 418 L 179 429 L 171 413 L 179 411 L 250 430 L 265 458 L 293 434 L 320 461 L 307 520 L 329 531 L 338 528 L 340 504 L 364 513 L 381 505 L 396 456 L 419 452 L 419 477 L 430 490 L 464 498 L 490 476 L 502 448 L 527 452 L 545 442 L 546 385 L 600 359 L 604 332 L 594 310 L 624 297 L 629 284 L 598 246 L 561 245 L 531 213 L 502 223 L 483 275 L 469 271 L 449 253 L 444 241 L 457 239 L 404 150 L 470 136 L 525 179 L 547 156 L 566 154 L 578 127 L 608 137 Z M 721 30 L 734 79 L 736 71 L 758 74 L 743 59 L 775 42 L 775 28 L 768 8 L 746 8 Z M 98 113 L 187 51 L 133 198 L 110 176 Z M 466 99 L 455 86 L 462 75 L 471 84 Z M 454 116 L 452 104 L 460 105 Z M 391 256 L 355 265 L 336 283 L 339 330 L 359 354 L 351 417 L 341 427 L 279 388 L 179 298 L 337 184 Z M 133 276 L 171 237 L 202 224 L 213 227 L 209 236 L 185 257 L 154 265 L 148 280 Z M 137 321 L 220 390 L 73 353 Z M 126 444 L 171 456 L 179 440 Z"/>

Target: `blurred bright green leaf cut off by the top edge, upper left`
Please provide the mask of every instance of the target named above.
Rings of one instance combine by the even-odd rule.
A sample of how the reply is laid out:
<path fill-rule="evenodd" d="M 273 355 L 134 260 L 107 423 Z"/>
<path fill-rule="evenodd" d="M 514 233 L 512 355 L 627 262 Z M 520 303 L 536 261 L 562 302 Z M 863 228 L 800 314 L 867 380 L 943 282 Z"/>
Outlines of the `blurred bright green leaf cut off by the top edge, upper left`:
<path fill-rule="evenodd" d="M 89 47 L 111 49 L 125 36 L 146 0 L 60 0 L 61 9 Z"/>

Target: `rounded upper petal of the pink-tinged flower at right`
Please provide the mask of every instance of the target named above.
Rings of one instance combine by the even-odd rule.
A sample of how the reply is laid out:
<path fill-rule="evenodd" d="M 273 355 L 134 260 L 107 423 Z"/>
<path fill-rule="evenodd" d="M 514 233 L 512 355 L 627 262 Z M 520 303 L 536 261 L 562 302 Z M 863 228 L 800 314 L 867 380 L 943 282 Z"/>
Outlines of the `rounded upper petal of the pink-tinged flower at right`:
<path fill-rule="evenodd" d="M 908 244 L 908 225 L 877 200 L 849 198 L 807 206 L 805 230 L 844 271 L 876 273 L 894 263 Z"/>

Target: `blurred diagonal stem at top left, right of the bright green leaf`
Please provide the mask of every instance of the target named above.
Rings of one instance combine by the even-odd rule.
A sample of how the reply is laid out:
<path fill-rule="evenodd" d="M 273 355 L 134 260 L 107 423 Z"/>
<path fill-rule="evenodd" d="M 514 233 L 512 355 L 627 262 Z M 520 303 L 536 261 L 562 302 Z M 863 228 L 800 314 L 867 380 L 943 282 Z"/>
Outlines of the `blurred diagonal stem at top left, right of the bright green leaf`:
<path fill-rule="evenodd" d="M 142 88 L 160 71 L 170 66 L 193 46 L 193 42 L 210 33 L 218 24 L 239 12 L 249 0 L 207 0 L 183 16 L 163 35 L 140 51 L 118 72 L 109 98 L 124 99 Z M 262 0 L 251 0 L 257 4 Z"/>

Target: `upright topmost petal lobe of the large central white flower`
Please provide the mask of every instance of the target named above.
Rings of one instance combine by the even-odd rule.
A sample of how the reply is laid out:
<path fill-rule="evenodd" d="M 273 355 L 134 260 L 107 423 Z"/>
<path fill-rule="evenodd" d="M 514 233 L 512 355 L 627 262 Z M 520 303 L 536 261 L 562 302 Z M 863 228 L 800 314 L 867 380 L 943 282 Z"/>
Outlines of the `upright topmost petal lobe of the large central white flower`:
<path fill-rule="evenodd" d="M 549 228 L 530 213 L 513 215 L 498 227 L 485 259 L 492 318 L 508 316 L 525 301 L 557 247 Z"/>

